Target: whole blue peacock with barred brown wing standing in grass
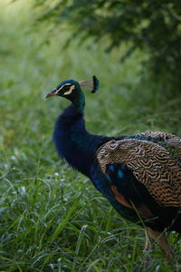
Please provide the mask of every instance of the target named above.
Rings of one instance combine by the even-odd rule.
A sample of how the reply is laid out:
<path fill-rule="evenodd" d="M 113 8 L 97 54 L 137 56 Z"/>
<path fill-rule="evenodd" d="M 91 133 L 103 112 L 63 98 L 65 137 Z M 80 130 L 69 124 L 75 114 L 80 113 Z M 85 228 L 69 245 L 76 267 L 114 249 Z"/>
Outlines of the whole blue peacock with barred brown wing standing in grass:
<path fill-rule="evenodd" d="M 63 81 L 46 94 L 71 102 L 52 135 L 59 156 L 87 176 L 122 217 L 145 228 L 145 252 L 155 241 L 172 260 L 165 233 L 181 233 L 181 139 L 159 131 L 91 134 L 85 127 L 82 87 L 96 92 L 99 80 L 94 75 L 90 81 Z"/>

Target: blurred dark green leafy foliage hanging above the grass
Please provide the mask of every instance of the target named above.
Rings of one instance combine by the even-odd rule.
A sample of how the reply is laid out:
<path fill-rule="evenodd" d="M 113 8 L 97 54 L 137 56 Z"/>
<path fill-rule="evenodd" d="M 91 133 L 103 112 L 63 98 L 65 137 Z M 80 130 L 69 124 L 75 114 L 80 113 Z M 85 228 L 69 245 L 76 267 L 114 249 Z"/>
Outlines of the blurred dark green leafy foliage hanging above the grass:
<path fill-rule="evenodd" d="M 136 49 L 147 53 L 142 61 L 154 80 L 163 80 L 168 89 L 179 89 L 181 83 L 181 2 L 179 0 L 36 0 L 42 21 L 51 20 L 61 29 L 71 26 L 71 43 L 105 43 L 106 50 L 126 44 L 121 60 Z M 167 74 L 167 76 L 166 76 Z M 176 90 L 175 90 L 176 92 Z"/>

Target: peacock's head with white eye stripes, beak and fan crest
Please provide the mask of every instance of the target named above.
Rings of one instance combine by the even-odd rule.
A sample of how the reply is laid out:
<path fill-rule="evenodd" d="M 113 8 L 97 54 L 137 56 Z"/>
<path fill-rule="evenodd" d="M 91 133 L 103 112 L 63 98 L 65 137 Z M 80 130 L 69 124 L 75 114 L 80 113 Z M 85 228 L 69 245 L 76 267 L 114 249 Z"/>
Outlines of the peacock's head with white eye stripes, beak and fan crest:
<path fill-rule="evenodd" d="M 84 103 L 84 95 L 81 91 L 81 87 L 89 88 L 91 92 L 96 92 L 99 88 L 99 80 L 95 75 L 92 76 L 90 81 L 75 82 L 68 80 L 60 83 L 51 92 L 48 92 L 45 98 L 52 97 L 55 95 L 65 97 L 72 103 L 78 105 Z"/>

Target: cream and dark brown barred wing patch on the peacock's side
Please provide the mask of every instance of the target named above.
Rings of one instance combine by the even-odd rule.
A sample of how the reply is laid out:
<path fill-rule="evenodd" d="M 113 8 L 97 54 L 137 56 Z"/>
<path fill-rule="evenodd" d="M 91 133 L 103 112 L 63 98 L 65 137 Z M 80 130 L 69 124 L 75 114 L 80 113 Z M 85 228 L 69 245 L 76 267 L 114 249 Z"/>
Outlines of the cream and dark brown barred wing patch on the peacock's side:
<path fill-rule="evenodd" d="M 103 172 L 110 163 L 127 165 L 160 206 L 181 206 L 181 166 L 158 144 L 113 140 L 100 147 L 97 159 Z"/>

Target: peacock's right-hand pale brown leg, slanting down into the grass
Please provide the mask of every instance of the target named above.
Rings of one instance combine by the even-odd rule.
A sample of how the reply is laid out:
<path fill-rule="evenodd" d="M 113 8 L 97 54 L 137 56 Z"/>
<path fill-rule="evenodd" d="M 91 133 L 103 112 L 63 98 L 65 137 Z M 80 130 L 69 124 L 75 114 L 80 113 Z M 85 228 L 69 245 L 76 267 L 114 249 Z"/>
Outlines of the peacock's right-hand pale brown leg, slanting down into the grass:
<path fill-rule="evenodd" d="M 148 233 L 148 237 L 152 238 L 154 241 L 156 241 L 157 245 L 162 249 L 163 253 L 165 254 L 167 258 L 167 262 L 170 263 L 174 255 L 172 253 L 171 248 L 168 245 L 167 238 L 163 233 L 157 230 L 153 230 L 151 228 L 146 228 L 146 231 Z"/>

